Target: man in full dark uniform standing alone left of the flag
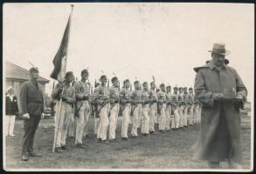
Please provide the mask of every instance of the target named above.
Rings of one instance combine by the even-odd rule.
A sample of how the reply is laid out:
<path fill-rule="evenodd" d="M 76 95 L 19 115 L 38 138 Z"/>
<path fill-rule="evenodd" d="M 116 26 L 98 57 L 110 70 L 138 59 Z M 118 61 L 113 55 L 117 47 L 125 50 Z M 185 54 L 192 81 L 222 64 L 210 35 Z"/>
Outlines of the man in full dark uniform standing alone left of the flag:
<path fill-rule="evenodd" d="M 30 70 L 31 80 L 25 82 L 20 90 L 21 114 L 24 117 L 24 138 L 22 145 L 22 160 L 30 157 L 40 157 L 33 151 L 33 142 L 38 124 L 44 112 L 43 91 L 38 86 L 38 69 Z"/>

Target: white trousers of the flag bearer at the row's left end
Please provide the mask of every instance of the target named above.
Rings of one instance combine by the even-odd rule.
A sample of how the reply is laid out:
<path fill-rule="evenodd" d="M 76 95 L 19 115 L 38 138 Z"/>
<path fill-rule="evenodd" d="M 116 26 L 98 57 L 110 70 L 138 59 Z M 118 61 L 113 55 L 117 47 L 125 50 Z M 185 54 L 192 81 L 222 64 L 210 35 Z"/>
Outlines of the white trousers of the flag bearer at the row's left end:
<path fill-rule="evenodd" d="M 59 106 L 59 102 L 57 103 L 57 106 Z M 70 119 L 71 117 L 73 117 L 71 104 L 66 104 L 65 102 L 62 102 L 59 111 L 59 116 L 55 116 L 58 117 L 58 119 L 56 120 L 59 120 L 59 125 L 57 125 L 58 123 L 55 122 L 55 128 L 57 128 L 56 147 L 66 145 L 67 129 L 69 126 Z"/>

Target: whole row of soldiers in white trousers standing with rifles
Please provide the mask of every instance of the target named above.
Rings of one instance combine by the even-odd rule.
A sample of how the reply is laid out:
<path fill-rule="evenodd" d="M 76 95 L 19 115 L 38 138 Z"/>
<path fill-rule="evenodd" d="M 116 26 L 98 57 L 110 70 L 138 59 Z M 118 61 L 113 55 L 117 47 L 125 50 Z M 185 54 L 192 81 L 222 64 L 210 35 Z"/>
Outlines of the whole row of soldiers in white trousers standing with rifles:
<path fill-rule="evenodd" d="M 96 84 L 94 90 L 87 82 L 88 70 L 81 71 L 81 80 L 72 84 L 73 72 L 66 72 L 65 82 L 59 83 L 52 90 L 52 98 L 59 105 L 58 123 L 56 122 L 56 151 L 62 152 L 66 147 L 66 136 L 70 120 L 75 116 L 75 144 L 77 147 L 86 148 L 82 142 L 85 130 L 88 129 L 89 117 L 99 117 L 98 123 L 94 120 L 94 131 L 99 143 L 118 142 L 115 132 L 117 120 L 121 113 L 121 138 L 128 140 L 128 125 L 132 124 L 131 137 L 138 137 L 140 128 L 143 136 L 149 136 L 156 132 L 156 124 L 160 132 L 173 129 L 183 129 L 188 125 L 200 122 L 200 104 L 194 99 L 193 89 L 189 92 L 186 87 L 171 87 L 160 84 L 156 90 L 155 82 L 134 82 L 134 90 L 131 90 L 131 82 L 126 79 L 123 88 L 117 77 L 112 77 L 112 86 L 107 85 L 107 76 L 100 77 L 100 84 Z M 107 130 L 109 129 L 109 141 Z"/>

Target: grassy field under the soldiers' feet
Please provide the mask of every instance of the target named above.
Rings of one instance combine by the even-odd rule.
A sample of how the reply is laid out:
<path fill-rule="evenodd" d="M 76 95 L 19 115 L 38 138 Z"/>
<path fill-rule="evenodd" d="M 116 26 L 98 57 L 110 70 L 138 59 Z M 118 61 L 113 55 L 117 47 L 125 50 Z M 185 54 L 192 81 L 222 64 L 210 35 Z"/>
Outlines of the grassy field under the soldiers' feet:
<path fill-rule="evenodd" d="M 36 133 L 34 150 L 42 153 L 43 157 L 33 157 L 24 162 L 21 160 L 23 121 L 17 120 L 14 131 L 16 137 L 6 137 L 7 169 L 207 169 L 206 162 L 192 159 L 198 125 L 190 126 L 185 131 L 170 131 L 150 138 L 141 136 L 123 141 L 120 119 L 117 130 L 120 142 L 100 144 L 92 136 L 92 119 L 89 129 L 91 136 L 84 139 L 86 150 L 76 148 L 73 141 L 68 140 L 67 145 L 71 150 L 58 154 L 52 153 L 53 122 L 53 119 L 41 120 Z M 242 164 L 245 169 L 249 169 L 251 131 L 245 127 L 241 133 Z M 227 168 L 227 163 L 222 163 L 222 167 Z"/>

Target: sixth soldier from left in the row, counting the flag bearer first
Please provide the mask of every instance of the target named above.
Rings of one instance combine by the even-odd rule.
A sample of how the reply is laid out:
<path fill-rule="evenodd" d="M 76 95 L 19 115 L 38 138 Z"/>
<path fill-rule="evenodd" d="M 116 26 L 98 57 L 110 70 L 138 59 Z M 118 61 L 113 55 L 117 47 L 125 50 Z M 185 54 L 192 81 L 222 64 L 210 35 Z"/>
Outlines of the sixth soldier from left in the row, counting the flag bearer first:
<path fill-rule="evenodd" d="M 139 113 L 141 112 L 142 109 L 142 90 L 140 90 L 140 82 L 136 80 L 134 82 L 135 85 L 135 90 L 132 93 L 131 96 L 131 104 L 132 104 L 132 109 L 131 113 L 133 114 L 133 127 L 132 127 L 132 137 L 138 137 L 138 124 L 139 124 Z"/>

